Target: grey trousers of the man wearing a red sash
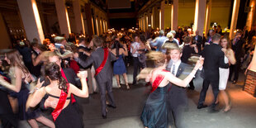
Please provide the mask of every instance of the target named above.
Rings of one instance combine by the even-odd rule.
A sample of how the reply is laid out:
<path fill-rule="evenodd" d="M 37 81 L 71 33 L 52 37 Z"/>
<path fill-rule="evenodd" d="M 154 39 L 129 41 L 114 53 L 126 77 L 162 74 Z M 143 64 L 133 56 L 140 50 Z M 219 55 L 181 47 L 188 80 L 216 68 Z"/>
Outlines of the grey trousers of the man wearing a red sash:
<path fill-rule="evenodd" d="M 102 115 L 106 116 L 107 115 L 106 90 L 107 90 L 107 96 L 109 97 L 109 100 L 110 100 L 109 102 L 111 103 L 111 105 L 113 107 L 116 107 L 116 103 L 115 103 L 114 96 L 112 93 L 112 80 L 110 79 L 105 83 L 100 83 L 100 82 L 97 82 L 97 83 L 98 83 L 97 85 L 98 85 L 98 88 L 99 88 L 99 91 L 101 94 Z"/>

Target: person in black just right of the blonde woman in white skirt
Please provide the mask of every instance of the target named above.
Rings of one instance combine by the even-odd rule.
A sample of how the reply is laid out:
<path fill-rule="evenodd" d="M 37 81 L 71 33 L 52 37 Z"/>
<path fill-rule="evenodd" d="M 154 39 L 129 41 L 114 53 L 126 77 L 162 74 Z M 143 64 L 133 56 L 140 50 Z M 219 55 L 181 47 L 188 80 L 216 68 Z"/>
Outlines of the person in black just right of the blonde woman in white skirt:
<path fill-rule="evenodd" d="M 239 77 L 239 69 L 241 65 L 241 58 L 243 58 L 243 45 L 245 43 L 244 39 L 241 37 L 242 36 L 242 31 L 237 31 L 235 34 L 234 40 L 232 40 L 231 47 L 232 50 L 235 52 L 235 59 L 236 59 L 236 64 L 230 65 L 230 76 L 229 80 L 231 81 L 233 73 L 235 73 L 233 83 L 235 84 L 238 80 Z"/>

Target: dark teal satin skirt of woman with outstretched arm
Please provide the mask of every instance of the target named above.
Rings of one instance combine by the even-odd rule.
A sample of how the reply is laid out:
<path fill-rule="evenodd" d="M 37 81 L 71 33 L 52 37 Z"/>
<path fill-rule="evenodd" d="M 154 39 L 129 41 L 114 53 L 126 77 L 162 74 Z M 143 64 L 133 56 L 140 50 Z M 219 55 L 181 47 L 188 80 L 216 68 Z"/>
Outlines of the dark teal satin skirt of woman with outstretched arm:
<path fill-rule="evenodd" d="M 167 128 L 168 127 L 168 111 L 166 107 L 167 87 L 156 88 L 154 92 L 149 94 L 145 103 L 142 114 L 140 116 L 144 126 L 149 128 Z"/>

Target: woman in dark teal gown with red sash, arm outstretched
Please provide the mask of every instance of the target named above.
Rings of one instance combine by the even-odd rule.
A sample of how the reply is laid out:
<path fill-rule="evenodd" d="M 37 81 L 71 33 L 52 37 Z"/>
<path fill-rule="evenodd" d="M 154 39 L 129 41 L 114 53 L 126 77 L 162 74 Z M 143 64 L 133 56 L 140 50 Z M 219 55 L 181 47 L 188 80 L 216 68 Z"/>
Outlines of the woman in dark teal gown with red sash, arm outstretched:
<path fill-rule="evenodd" d="M 168 91 L 168 88 L 166 88 L 166 85 L 168 83 L 173 83 L 181 87 L 186 87 L 197 73 L 197 69 L 202 66 L 203 59 L 200 58 L 197 60 L 197 64 L 192 70 L 192 73 L 190 73 L 184 80 L 181 80 L 176 78 L 173 73 L 164 70 L 166 67 L 166 60 L 165 55 L 161 52 L 151 51 L 148 58 L 154 60 L 157 68 L 150 71 L 150 73 L 148 72 L 149 74 L 139 74 L 138 76 L 139 78 L 145 78 L 146 81 L 152 83 L 152 90 L 145 103 L 140 119 L 146 128 L 167 128 L 168 111 L 166 107 L 166 92 Z M 141 72 L 145 73 L 147 71 L 142 70 Z"/>

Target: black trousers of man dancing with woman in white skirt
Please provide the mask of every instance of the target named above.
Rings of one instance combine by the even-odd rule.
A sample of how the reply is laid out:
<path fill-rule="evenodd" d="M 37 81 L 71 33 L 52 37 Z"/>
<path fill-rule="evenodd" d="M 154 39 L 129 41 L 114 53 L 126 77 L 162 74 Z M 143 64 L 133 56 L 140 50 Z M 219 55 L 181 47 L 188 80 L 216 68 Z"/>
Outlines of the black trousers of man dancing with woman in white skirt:
<path fill-rule="evenodd" d="M 219 94 L 219 79 L 216 79 L 216 80 L 211 80 L 211 79 L 206 79 L 206 78 L 204 79 L 202 88 L 201 88 L 201 92 L 200 92 L 198 105 L 202 105 L 205 102 L 206 92 L 209 88 L 210 83 L 211 83 L 211 88 L 212 88 L 212 92 L 214 95 L 214 101 L 212 102 L 211 107 L 215 107 L 215 102 L 216 102 L 217 96 Z"/>

